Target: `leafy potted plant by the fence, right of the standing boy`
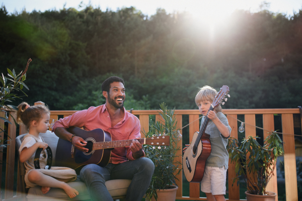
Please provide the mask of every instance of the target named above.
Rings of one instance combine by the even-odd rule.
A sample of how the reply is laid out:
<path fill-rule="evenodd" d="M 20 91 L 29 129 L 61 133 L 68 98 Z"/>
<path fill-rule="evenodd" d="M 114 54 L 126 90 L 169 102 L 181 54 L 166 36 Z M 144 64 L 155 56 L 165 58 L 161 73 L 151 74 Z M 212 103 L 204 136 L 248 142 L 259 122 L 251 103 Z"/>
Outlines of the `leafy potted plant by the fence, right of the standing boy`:
<path fill-rule="evenodd" d="M 276 193 L 266 191 L 266 186 L 274 174 L 277 157 L 284 153 L 283 142 L 275 131 L 269 133 L 263 146 L 256 138 L 258 136 L 249 136 L 241 143 L 234 138 L 229 140 L 227 148 L 231 162 L 236 163 L 233 184 L 235 181 L 237 185 L 241 183 L 240 176 L 243 176 L 245 184 L 241 184 L 247 188 L 247 200 L 275 200 Z"/>

